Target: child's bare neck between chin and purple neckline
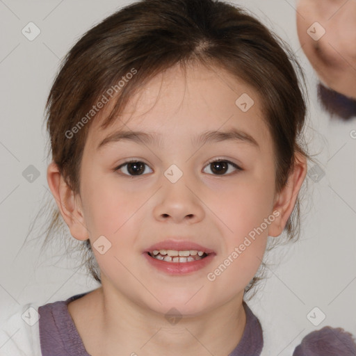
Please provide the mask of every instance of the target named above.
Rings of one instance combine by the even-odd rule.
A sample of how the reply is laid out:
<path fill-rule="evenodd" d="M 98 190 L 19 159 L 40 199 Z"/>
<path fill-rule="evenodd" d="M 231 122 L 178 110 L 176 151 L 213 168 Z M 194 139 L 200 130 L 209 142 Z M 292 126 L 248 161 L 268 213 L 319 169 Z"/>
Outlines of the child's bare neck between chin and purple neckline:
<path fill-rule="evenodd" d="M 181 318 L 168 318 L 122 295 L 118 298 L 118 293 L 104 293 L 102 287 L 90 294 L 92 307 L 86 310 L 92 310 L 95 330 L 83 342 L 93 356 L 162 355 L 167 350 L 172 356 L 226 356 L 241 340 L 246 323 L 243 294 L 217 309 Z"/>

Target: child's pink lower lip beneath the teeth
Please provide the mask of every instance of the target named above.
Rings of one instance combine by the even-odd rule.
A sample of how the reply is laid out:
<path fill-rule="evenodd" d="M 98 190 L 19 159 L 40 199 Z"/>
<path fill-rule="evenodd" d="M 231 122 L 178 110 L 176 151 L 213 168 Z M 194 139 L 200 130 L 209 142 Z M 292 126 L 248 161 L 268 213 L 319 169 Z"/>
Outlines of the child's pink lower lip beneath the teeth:
<path fill-rule="evenodd" d="M 187 273 L 195 272 L 207 266 L 214 256 L 215 253 L 210 253 L 204 259 L 198 259 L 197 261 L 191 262 L 167 262 L 161 261 L 161 259 L 155 259 L 154 257 L 149 256 L 147 252 L 143 254 L 149 264 L 161 270 L 162 272 L 168 273 L 170 275 L 186 275 Z"/>

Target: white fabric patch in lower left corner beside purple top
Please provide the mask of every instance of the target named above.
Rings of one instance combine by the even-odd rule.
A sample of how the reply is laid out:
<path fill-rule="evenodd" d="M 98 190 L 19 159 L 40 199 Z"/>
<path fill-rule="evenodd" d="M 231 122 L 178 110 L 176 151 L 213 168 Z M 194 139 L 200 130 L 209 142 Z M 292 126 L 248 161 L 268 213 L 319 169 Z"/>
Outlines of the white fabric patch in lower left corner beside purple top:
<path fill-rule="evenodd" d="M 38 305 L 1 307 L 0 354 L 1 356 L 41 355 Z"/>

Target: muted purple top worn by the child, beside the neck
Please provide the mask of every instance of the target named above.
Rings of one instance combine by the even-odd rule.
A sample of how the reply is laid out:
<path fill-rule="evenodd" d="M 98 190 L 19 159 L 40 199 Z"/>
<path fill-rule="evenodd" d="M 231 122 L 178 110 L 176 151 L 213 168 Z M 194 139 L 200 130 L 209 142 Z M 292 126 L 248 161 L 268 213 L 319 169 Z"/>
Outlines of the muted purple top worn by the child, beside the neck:
<path fill-rule="evenodd" d="M 48 303 L 38 308 L 42 356 L 90 356 L 67 308 L 72 300 L 81 298 L 87 293 L 77 294 L 67 300 Z M 229 356 L 259 356 L 264 345 L 261 324 L 245 301 L 243 307 L 246 313 L 245 329 L 241 341 Z"/>

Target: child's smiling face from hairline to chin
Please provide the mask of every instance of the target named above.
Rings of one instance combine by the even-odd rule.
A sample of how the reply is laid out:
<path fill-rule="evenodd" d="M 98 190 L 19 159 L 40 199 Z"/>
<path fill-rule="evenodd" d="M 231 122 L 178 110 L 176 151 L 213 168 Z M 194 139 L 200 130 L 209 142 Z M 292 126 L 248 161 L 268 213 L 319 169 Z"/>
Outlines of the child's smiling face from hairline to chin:
<path fill-rule="evenodd" d="M 245 112 L 235 104 L 243 93 L 254 100 L 248 111 L 249 104 L 242 103 Z M 200 314 L 226 302 L 241 303 L 275 225 L 273 141 L 259 97 L 227 72 L 203 67 L 189 69 L 186 77 L 174 67 L 138 94 L 113 126 L 100 131 L 101 122 L 92 123 L 81 163 L 79 202 L 90 240 L 105 236 L 111 243 L 108 248 L 102 240 L 103 254 L 93 248 L 104 292 L 161 313 L 175 307 L 181 314 Z M 157 138 L 97 148 L 120 130 Z M 195 142 L 205 131 L 232 130 L 248 134 L 256 144 L 245 139 Z M 130 159 L 145 165 L 115 171 Z M 231 161 L 242 170 L 211 160 Z M 212 250 L 212 257 L 188 273 L 159 269 L 147 250 L 167 239 L 197 243 Z M 214 271 L 220 264 L 219 274 Z"/>

